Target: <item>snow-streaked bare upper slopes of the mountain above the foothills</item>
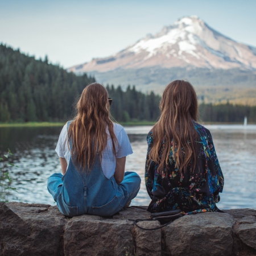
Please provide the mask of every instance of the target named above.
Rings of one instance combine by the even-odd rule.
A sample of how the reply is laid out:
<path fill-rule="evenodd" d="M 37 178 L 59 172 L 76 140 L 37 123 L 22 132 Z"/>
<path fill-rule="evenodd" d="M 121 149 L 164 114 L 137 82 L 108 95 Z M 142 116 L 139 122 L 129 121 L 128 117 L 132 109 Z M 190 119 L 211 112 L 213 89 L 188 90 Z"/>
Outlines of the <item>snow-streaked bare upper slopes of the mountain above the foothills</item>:
<path fill-rule="evenodd" d="M 115 55 L 93 59 L 68 71 L 108 72 L 138 68 L 256 70 L 256 48 L 213 30 L 197 16 L 185 16 L 155 35 L 147 35 Z"/>

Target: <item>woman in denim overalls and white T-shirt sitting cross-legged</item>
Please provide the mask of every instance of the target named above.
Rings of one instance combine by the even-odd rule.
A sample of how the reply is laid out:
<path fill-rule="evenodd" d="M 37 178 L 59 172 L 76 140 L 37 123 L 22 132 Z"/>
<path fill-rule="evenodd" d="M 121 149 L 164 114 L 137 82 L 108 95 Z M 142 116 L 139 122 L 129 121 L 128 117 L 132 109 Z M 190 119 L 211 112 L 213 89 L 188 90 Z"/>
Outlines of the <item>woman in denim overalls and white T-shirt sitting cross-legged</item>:
<path fill-rule="evenodd" d="M 110 119 L 111 102 L 101 84 L 86 86 L 76 117 L 61 131 L 56 152 L 62 174 L 51 175 L 47 188 L 65 216 L 112 216 L 139 191 L 139 175 L 125 172 L 133 151 L 123 127 Z"/>

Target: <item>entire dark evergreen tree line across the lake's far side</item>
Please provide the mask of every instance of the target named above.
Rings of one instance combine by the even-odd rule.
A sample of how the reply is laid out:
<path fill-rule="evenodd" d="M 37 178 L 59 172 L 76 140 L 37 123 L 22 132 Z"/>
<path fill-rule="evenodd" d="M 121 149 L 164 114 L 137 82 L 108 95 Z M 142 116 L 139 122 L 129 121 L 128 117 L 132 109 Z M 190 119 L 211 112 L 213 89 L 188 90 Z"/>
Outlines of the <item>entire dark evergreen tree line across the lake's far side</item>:
<path fill-rule="evenodd" d="M 86 85 L 95 82 L 86 74 L 76 76 L 47 57 L 36 60 L 0 44 L 0 122 L 67 121 L 73 117 L 74 103 Z M 118 122 L 156 121 L 160 96 L 145 94 L 135 86 L 107 85 L 113 98 L 111 112 Z M 201 104 L 200 119 L 205 122 L 256 122 L 256 106 Z"/>

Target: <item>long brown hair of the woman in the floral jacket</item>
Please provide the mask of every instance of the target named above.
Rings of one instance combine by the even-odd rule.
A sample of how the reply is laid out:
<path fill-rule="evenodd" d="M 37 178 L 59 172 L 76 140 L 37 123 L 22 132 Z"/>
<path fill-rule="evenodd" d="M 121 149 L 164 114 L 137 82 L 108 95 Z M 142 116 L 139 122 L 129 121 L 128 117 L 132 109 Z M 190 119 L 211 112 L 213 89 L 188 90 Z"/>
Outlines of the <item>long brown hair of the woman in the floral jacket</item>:
<path fill-rule="evenodd" d="M 149 160 L 159 164 L 158 173 L 164 171 L 169 160 L 170 150 L 175 168 L 185 172 L 190 166 L 191 172 L 196 168 L 197 132 L 193 120 L 197 121 L 198 105 L 193 86 L 183 80 L 175 80 L 167 85 L 159 108 L 161 115 L 152 129 L 154 142 Z M 163 144 L 162 144 L 162 141 Z"/>

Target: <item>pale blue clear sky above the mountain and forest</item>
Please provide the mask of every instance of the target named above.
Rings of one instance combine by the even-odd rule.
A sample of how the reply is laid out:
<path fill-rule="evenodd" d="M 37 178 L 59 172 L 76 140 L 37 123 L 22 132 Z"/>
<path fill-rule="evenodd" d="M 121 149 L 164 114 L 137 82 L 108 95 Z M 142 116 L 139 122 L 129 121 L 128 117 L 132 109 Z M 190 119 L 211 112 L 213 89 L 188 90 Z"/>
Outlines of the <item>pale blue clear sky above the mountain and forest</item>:
<path fill-rule="evenodd" d="M 107 57 L 197 15 L 256 47 L 255 0 L 0 0 L 0 43 L 68 68 Z"/>

